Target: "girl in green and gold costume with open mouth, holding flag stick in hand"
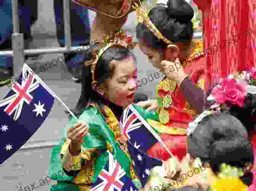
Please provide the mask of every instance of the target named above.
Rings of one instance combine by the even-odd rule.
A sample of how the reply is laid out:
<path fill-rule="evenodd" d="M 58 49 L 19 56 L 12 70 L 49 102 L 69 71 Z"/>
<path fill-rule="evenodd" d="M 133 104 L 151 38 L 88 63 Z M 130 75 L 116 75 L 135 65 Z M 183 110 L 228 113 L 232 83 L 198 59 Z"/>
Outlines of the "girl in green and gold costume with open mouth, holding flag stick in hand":
<path fill-rule="evenodd" d="M 132 181 L 140 187 L 118 122 L 123 108 L 133 103 L 136 91 L 135 58 L 128 49 L 134 44 L 130 41 L 120 31 L 106 36 L 104 47 L 92 51 L 93 59 L 86 63 L 88 71 L 83 73 L 86 75 L 85 100 L 89 101 L 83 103 L 83 108 L 77 114 L 80 122 L 70 118 L 64 139 L 52 151 L 50 177 L 58 184 L 51 186 L 51 191 L 99 189 L 96 186 L 99 184 L 97 178 L 102 175 L 107 163 L 110 169 L 113 159 L 116 161 L 114 164 L 120 166 L 118 169 L 123 169 L 117 183 L 126 177 L 122 183 Z M 66 176 L 54 177 L 53 172 L 60 169 L 64 170 Z M 119 188 L 122 183 L 119 182 Z"/>

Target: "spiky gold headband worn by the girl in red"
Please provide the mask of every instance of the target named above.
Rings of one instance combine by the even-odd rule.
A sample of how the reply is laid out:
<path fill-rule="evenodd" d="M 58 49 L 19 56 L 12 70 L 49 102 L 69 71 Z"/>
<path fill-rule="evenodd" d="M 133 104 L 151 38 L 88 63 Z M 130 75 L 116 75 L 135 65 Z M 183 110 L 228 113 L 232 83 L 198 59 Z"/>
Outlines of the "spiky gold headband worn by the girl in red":
<path fill-rule="evenodd" d="M 148 13 L 149 11 L 147 10 L 146 5 L 144 5 L 141 1 L 140 5 L 138 5 L 137 3 L 134 3 L 133 8 L 135 9 L 136 13 L 137 13 L 137 17 L 140 23 L 144 24 L 147 26 L 147 28 L 158 38 L 158 39 L 162 39 L 166 44 L 174 44 L 173 42 L 171 42 L 170 40 L 168 40 L 167 38 L 165 38 L 162 33 L 160 33 L 160 31 L 157 29 L 157 27 L 155 27 L 155 25 L 152 23 L 152 21 L 150 21 Z"/>

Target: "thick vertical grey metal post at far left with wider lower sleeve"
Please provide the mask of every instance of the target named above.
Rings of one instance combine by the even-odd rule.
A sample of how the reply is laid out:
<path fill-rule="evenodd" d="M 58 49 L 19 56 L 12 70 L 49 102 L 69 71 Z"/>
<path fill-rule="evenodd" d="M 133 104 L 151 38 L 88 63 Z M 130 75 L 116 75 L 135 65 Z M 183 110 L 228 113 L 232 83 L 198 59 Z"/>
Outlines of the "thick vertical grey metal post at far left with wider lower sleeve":
<path fill-rule="evenodd" d="M 24 64 L 24 38 L 23 34 L 19 33 L 19 8 L 18 0 L 12 0 L 13 9 L 13 35 L 12 35 L 12 48 L 13 48 L 13 73 L 14 77 L 18 77 Z"/>

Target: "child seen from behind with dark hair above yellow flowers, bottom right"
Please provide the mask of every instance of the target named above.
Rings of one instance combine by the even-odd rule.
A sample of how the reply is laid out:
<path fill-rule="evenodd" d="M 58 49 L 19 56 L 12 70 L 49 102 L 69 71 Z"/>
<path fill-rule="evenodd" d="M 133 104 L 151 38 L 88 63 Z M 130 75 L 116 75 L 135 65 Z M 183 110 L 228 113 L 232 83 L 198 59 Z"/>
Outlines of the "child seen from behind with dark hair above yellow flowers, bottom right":
<path fill-rule="evenodd" d="M 225 113 L 206 116 L 187 138 L 190 169 L 181 174 L 194 172 L 185 180 L 188 185 L 202 191 L 247 191 L 253 180 L 250 171 L 254 163 L 253 148 L 245 127 L 237 118 Z M 195 172 L 197 165 L 191 165 L 196 160 L 201 166 L 200 173 Z"/>

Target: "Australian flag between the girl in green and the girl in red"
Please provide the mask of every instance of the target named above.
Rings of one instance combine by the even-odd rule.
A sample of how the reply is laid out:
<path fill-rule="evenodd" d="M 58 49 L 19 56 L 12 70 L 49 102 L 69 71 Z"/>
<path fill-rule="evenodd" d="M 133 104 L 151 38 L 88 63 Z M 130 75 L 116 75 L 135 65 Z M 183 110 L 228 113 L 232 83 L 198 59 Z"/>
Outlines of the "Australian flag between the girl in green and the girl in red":
<path fill-rule="evenodd" d="M 149 148 L 158 142 L 155 139 L 155 136 L 158 136 L 158 134 L 155 133 L 142 115 L 139 114 L 133 104 L 130 104 L 123 111 L 120 126 L 125 137 L 142 152 L 146 153 Z"/>

